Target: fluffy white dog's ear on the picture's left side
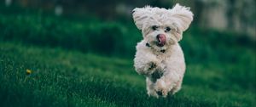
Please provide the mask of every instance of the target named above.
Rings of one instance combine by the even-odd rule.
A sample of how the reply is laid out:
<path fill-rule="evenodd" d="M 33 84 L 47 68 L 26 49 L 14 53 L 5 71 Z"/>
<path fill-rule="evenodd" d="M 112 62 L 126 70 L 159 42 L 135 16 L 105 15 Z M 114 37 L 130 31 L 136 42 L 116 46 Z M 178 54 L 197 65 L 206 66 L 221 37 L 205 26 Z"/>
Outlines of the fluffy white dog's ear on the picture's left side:
<path fill-rule="evenodd" d="M 144 22 L 150 17 L 152 14 L 151 7 L 146 6 L 144 8 L 134 8 L 132 10 L 132 17 L 135 22 L 135 25 L 139 30 L 143 29 Z"/>

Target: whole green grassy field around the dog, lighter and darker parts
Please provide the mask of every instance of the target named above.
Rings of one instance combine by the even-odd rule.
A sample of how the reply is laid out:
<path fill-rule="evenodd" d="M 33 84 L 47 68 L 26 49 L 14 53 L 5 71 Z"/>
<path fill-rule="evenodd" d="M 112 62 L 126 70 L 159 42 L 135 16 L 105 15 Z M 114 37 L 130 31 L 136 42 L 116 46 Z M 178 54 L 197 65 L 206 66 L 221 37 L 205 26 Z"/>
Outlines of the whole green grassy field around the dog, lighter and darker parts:
<path fill-rule="evenodd" d="M 192 25 L 180 42 L 182 90 L 154 99 L 133 68 L 140 39 L 132 21 L 0 14 L 0 106 L 256 105 L 255 41 Z"/>

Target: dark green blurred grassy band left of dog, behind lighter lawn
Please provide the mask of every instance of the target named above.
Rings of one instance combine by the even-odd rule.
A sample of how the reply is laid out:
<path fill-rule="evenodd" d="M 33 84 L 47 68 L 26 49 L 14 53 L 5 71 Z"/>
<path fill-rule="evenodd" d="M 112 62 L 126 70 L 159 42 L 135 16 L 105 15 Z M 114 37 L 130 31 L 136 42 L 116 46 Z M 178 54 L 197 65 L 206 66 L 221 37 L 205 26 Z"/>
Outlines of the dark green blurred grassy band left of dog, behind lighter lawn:
<path fill-rule="evenodd" d="M 0 40 L 131 56 L 135 52 L 131 45 L 141 39 L 140 32 L 131 24 L 125 26 L 95 19 L 67 20 L 49 14 L 0 14 Z"/>

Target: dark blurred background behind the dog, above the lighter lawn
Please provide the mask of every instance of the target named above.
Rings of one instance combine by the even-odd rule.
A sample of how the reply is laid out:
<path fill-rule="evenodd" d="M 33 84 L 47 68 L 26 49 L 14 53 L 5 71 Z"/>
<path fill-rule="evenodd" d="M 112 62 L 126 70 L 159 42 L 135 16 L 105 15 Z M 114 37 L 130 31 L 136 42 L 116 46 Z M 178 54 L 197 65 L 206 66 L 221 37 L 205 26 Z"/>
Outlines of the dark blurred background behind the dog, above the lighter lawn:
<path fill-rule="evenodd" d="M 195 14 L 185 35 L 254 47 L 247 42 L 256 40 L 254 0 L 2 0 L 1 38 L 133 56 L 142 36 L 133 24 L 132 9 L 172 8 L 175 3 L 190 7 Z"/>

